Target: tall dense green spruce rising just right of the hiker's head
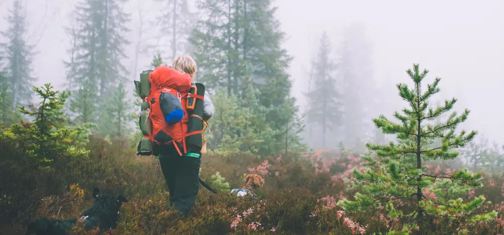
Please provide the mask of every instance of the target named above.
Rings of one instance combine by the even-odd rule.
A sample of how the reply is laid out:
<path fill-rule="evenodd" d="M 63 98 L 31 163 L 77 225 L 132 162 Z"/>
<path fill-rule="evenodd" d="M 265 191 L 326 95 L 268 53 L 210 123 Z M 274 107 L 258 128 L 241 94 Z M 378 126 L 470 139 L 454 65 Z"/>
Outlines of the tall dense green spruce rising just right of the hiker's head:
<path fill-rule="evenodd" d="M 289 96 L 287 68 L 292 58 L 280 45 L 284 33 L 274 17 L 276 8 L 270 0 L 201 0 L 198 6 L 201 17 L 190 42 L 200 81 L 208 90 L 225 88 L 228 96 L 243 98 L 249 77 L 260 91 L 259 104 L 269 110 L 266 116 L 276 138 L 285 140 L 297 107 Z"/>

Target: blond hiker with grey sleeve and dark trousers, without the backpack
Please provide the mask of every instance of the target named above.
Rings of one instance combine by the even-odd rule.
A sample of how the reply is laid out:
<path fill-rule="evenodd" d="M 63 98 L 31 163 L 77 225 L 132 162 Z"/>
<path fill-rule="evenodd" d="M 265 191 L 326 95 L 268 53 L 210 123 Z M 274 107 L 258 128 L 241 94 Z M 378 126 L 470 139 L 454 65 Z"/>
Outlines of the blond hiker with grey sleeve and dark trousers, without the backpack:
<path fill-rule="evenodd" d="M 173 59 L 171 68 L 185 72 L 192 78 L 196 75 L 196 62 L 191 56 L 183 55 Z M 205 90 L 202 119 L 208 121 L 214 114 L 214 110 L 210 95 Z M 158 156 L 161 170 L 168 185 L 170 206 L 173 205 L 183 214 L 187 213 L 195 204 L 199 191 L 201 154 L 201 148 L 188 146 L 187 154 L 180 156 L 180 150 L 175 146 L 175 148 L 170 148 L 169 151 Z"/>

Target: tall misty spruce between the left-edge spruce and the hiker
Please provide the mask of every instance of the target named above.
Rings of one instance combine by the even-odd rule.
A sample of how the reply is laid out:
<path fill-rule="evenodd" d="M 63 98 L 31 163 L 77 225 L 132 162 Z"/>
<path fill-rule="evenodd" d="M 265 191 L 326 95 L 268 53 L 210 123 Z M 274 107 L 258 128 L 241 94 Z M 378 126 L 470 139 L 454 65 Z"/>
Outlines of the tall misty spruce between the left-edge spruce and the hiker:
<path fill-rule="evenodd" d="M 124 34 L 129 32 L 130 16 L 124 13 L 123 3 L 81 0 L 74 11 L 75 24 L 69 31 L 71 57 L 66 67 L 67 82 L 78 90 L 70 103 L 78 122 L 104 121 L 105 102 L 128 75 L 122 60 L 128 58 L 124 47 L 129 41 Z"/>

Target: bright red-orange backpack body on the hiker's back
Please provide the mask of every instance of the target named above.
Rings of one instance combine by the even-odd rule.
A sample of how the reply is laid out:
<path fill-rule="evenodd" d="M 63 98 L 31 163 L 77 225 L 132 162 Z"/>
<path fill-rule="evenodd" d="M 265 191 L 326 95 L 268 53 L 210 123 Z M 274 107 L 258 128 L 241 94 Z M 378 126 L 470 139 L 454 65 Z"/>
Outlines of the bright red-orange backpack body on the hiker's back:
<path fill-rule="evenodd" d="M 187 105 L 190 98 L 204 99 L 202 95 L 192 94 L 195 88 L 193 78 L 184 72 L 177 71 L 169 66 L 159 66 L 149 75 L 151 90 L 146 100 L 149 103 L 150 136 L 145 136 L 152 141 L 152 154 L 157 156 L 173 145 L 180 156 L 187 153 L 186 137 L 201 134 L 202 131 L 187 133 L 189 120 L 188 109 L 194 105 Z M 178 98 L 183 109 L 183 118 L 180 122 L 169 125 L 160 107 L 162 93 L 171 93 Z M 194 100 L 194 99 L 193 99 Z"/>

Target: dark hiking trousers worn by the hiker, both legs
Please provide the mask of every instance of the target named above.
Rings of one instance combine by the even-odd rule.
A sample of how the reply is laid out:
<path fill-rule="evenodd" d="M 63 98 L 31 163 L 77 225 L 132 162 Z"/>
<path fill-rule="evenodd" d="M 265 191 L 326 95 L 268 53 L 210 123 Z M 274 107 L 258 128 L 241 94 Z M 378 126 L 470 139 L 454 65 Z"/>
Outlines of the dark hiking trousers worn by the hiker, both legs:
<path fill-rule="evenodd" d="M 170 193 L 170 206 L 186 214 L 195 204 L 200 189 L 201 157 L 160 155 L 159 163 Z"/>

